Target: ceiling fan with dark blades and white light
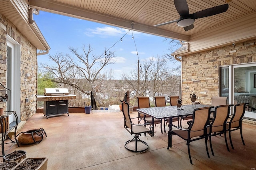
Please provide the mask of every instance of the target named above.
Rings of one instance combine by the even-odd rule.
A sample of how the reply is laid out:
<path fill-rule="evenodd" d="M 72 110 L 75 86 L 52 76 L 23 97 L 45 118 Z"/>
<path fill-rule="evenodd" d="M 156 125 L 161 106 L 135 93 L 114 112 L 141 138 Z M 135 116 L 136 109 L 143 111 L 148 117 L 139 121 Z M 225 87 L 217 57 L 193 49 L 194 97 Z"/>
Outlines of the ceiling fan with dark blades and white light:
<path fill-rule="evenodd" d="M 164 22 L 162 24 L 157 24 L 157 25 L 154 25 L 155 27 L 177 22 L 178 26 L 183 27 L 185 31 L 188 31 L 194 28 L 193 23 L 195 22 L 196 19 L 220 14 L 228 10 L 228 4 L 224 4 L 224 5 L 208 8 L 199 12 L 195 12 L 194 14 L 189 14 L 188 3 L 186 0 L 174 0 L 174 5 L 176 10 L 180 14 L 180 19 Z"/>

